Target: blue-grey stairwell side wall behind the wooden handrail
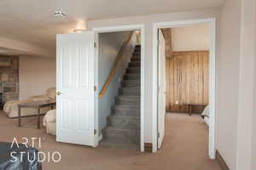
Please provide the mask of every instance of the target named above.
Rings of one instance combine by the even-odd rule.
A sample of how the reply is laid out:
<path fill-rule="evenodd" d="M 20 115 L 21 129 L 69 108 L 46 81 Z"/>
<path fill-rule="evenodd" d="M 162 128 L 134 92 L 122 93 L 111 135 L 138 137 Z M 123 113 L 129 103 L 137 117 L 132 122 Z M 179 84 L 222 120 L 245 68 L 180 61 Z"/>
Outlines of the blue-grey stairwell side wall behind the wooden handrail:
<path fill-rule="evenodd" d="M 128 38 L 130 31 L 108 32 L 99 34 L 99 90 L 102 89 L 108 75 L 112 69 L 113 61 L 116 59 L 119 49 L 123 42 Z M 132 42 L 128 44 L 122 61 L 119 64 L 119 69 L 112 82 L 108 87 L 107 93 L 102 99 L 99 99 L 99 129 L 102 133 L 102 128 L 107 125 L 107 116 L 111 113 L 111 107 L 114 105 L 114 97 L 118 95 L 120 80 L 123 78 L 123 73 L 131 58 Z"/>

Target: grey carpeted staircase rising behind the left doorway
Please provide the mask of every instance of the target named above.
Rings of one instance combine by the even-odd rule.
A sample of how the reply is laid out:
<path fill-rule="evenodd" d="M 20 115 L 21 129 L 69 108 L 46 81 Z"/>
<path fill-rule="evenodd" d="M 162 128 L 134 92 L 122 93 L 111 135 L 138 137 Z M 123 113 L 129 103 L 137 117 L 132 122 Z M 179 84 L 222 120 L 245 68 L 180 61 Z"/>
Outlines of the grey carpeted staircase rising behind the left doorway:
<path fill-rule="evenodd" d="M 140 144 L 141 46 L 137 45 L 126 69 L 115 105 L 102 129 L 102 145 L 138 149 Z"/>

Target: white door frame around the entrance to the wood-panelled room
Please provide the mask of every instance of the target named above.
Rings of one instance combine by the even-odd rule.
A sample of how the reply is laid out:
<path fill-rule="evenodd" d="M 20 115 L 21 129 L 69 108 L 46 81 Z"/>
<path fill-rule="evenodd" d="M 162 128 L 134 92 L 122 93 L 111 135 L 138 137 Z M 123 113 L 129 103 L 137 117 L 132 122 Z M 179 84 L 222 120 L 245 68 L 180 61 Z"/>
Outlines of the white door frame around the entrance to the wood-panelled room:
<path fill-rule="evenodd" d="M 152 81 L 152 139 L 153 152 L 157 151 L 157 31 L 159 28 L 191 26 L 195 24 L 209 24 L 210 26 L 210 68 L 209 68 L 209 105 L 210 105 L 210 121 L 209 121 L 209 144 L 208 155 L 211 159 L 215 159 L 216 153 L 216 19 L 202 20 L 179 20 L 172 22 L 157 22 L 153 24 L 153 81 Z"/>

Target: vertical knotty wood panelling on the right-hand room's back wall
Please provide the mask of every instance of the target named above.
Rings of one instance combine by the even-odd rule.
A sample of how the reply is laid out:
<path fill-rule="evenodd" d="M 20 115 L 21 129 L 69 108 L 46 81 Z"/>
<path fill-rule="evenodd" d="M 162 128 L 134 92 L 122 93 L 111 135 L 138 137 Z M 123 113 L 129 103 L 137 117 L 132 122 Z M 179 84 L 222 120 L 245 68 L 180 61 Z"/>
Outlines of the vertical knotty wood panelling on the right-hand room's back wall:
<path fill-rule="evenodd" d="M 208 87 L 208 51 L 172 52 L 172 58 L 166 58 L 166 111 L 188 112 L 185 103 L 207 105 Z"/>

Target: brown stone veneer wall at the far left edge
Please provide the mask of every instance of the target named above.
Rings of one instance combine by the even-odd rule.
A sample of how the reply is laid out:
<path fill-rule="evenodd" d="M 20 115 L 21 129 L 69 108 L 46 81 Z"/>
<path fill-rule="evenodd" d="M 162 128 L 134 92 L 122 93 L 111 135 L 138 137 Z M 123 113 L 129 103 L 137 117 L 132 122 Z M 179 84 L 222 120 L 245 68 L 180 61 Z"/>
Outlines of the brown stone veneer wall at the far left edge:
<path fill-rule="evenodd" d="M 3 103 L 19 99 L 19 57 L 0 56 L 0 93 Z"/>

